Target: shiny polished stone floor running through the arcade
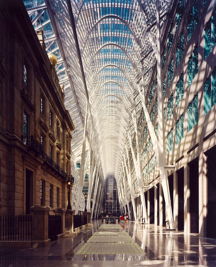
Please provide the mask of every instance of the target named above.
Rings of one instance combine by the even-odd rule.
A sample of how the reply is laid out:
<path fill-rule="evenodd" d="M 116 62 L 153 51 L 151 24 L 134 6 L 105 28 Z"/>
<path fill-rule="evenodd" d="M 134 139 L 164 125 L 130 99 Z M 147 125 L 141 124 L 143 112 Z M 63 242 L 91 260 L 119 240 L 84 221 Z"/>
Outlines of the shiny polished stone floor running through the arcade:
<path fill-rule="evenodd" d="M 159 230 L 154 225 L 141 225 L 138 222 L 122 223 L 121 228 L 117 226 L 119 229 L 111 225 L 108 229 L 104 226 L 99 228 L 101 221 L 98 220 L 92 223 L 92 227 L 80 231 L 76 236 L 63 238 L 45 248 L 0 248 L 0 267 L 216 266 L 216 239 Z M 120 243 L 119 236 L 122 236 Z M 102 237 L 102 242 L 91 242 L 94 238 L 93 241 L 99 241 L 98 237 Z M 119 244 L 126 246 L 123 254 L 107 254 L 109 251 L 106 250 L 104 254 L 77 254 L 91 244 L 102 244 L 97 246 L 101 247 L 101 251 L 102 246 L 108 246 L 113 251 L 111 244 L 114 244 L 116 253 L 121 253 Z M 130 250 L 131 244 L 136 244 L 143 254 Z"/>

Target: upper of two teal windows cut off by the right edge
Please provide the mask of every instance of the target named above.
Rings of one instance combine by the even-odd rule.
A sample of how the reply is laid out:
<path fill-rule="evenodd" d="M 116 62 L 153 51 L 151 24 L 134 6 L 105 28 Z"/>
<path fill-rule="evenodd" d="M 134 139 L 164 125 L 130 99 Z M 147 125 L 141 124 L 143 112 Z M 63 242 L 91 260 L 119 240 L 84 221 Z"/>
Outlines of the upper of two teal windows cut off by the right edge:
<path fill-rule="evenodd" d="M 210 54 L 212 48 L 215 46 L 216 42 L 216 10 L 213 12 L 210 20 L 208 21 L 205 27 L 205 45 L 204 45 L 204 59 L 206 60 L 207 56 Z"/>

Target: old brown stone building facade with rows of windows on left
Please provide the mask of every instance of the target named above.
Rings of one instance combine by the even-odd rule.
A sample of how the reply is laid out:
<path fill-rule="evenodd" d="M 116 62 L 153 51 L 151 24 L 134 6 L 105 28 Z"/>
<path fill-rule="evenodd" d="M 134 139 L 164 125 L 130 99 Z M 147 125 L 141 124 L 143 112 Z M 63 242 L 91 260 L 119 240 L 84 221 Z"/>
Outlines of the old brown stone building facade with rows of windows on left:
<path fill-rule="evenodd" d="M 0 215 L 29 214 L 40 205 L 66 208 L 71 175 L 74 125 L 64 91 L 43 32 L 36 34 L 17 3 L 0 10 Z"/>

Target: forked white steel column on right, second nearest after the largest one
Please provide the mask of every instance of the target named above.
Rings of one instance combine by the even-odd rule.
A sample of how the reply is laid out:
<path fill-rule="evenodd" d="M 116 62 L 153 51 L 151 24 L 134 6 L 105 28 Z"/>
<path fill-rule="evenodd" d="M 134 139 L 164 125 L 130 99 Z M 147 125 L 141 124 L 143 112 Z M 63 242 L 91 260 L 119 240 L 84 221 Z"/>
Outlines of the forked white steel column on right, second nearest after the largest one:
<path fill-rule="evenodd" d="M 135 114 L 135 116 L 136 116 L 136 114 Z M 136 146 L 139 146 L 136 121 L 134 121 L 134 128 L 135 128 L 135 135 L 136 135 Z M 139 148 L 136 147 L 136 153 L 137 153 L 137 159 L 136 159 L 135 154 L 134 154 L 134 149 L 132 146 L 131 135 L 129 134 L 129 132 L 128 132 L 128 138 L 129 138 L 131 153 L 132 153 L 132 157 L 133 157 L 133 161 L 134 161 L 136 178 L 137 178 L 138 186 L 139 186 L 140 198 L 141 198 L 141 203 L 142 203 L 142 208 L 143 208 L 143 215 L 145 218 L 145 223 L 148 223 L 148 218 L 147 218 L 147 213 L 146 213 L 146 203 L 145 203 L 145 198 L 144 198 L 144 193 L 143 193 L 143 181 L 141 180 L 142 170 L 141 170 L 141 160 L 140 160 L 140 155 L 139 155 Z"/>

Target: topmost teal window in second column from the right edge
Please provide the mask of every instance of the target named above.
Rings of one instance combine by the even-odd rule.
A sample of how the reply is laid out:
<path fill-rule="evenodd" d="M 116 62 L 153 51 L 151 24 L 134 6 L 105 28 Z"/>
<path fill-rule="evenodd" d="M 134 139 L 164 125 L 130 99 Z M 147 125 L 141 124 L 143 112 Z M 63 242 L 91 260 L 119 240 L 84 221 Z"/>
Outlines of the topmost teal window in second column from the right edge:
<path fill-rule="evenodd" d="M 188 42 L 190 41 L 190 38 L 198 24 L 198 19 L 199 19 L 198 3 L 199 3 L 199 0 L 195 0 L 193 7 L 190 11 L 190 14 L 188 16 Z"/>

